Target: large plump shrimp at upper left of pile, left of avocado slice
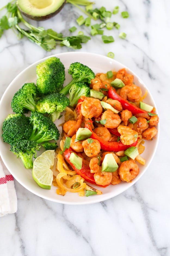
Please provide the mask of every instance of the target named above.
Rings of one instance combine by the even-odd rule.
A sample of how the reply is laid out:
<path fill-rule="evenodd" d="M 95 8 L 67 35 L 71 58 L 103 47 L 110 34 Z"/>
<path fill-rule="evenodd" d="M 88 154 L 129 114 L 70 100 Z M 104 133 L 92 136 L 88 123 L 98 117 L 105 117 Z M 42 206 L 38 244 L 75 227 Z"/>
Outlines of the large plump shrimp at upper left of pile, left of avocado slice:
<path fill-rule="evenodd" d="M 81 113 L 86 118 L 98 117 L 102 111 L 103 108 L 99 99 L 86 97 L 81 104 Z"/>

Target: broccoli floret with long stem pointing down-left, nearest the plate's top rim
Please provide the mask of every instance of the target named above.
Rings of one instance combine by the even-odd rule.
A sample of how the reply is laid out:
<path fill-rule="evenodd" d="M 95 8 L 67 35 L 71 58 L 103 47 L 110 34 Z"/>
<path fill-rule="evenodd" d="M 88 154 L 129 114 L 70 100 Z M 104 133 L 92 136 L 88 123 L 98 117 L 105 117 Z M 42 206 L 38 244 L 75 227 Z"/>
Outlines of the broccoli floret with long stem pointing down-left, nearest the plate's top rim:
<path fill-rule="evenodd" d="M 90 84 L 91 79 L 95 78 L 94 72 L 88 66 L 79 62 L 72 63 L 68 72 L 72 75 L 73 80 L 60 91 L 60 93 L 63 93 L 64 95 L 69 92 L 73 83 L 84 82 Z"/>

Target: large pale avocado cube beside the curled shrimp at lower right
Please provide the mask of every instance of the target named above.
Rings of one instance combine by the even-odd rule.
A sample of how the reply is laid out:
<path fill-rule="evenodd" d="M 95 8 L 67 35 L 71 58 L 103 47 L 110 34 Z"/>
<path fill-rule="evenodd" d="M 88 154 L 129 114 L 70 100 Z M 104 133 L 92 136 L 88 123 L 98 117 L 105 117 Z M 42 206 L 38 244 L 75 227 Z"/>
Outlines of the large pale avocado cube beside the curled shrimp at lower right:
<path fill-rule="evenodd" d="M 112 154 L 106 154 L 101 164 L 102 172 L 115 172 L 118 169 L 118 164 Z"/>

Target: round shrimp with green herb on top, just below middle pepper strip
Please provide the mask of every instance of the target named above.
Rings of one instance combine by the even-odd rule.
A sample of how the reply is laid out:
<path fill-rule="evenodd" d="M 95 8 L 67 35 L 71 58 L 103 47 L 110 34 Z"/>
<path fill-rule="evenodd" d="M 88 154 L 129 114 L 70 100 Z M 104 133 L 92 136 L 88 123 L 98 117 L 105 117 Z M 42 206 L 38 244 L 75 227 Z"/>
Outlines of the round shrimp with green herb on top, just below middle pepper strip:
<path fill-rule="evenodd" d="M 95 157 L 100 152 L 100 142 L 95 139 L 87 139 L 82 142 L 84 152 L 88 157 Z"/>

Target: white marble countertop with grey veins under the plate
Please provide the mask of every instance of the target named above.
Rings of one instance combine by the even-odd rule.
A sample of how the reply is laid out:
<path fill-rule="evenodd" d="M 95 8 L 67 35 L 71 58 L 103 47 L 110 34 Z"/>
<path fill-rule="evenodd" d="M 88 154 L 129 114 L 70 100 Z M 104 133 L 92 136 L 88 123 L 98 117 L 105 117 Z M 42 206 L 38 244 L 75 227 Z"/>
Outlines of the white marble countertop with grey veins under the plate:
<path fill-rule="evenodd" d="M 1 0 L 0 5 L 7 2 Z M 96 1 L 96 7 L 102 5 L 103 1 Z M 114 43 L 103 44 L 96 36 L 78 51 L 101 55 L 112 51 L 115 60 L 132 69 L 147 85 L 160 117 L 160 139 L 153 162 L 131 188 L 115 198 L 91 205 L 51 202 L 15 181 L 17 213 L 0 218 L 2 256 L 170 255 L 170 3 L 168 0 L 104 2 L 107 10 L 116 5 L 120 11 L 128 10 L 130 15 L 128 19 L 122 19 L 120 13 L 115 16 L 121 31 L 127 34 L 126 40 L 119 39 L 118 31 L 109 31 L 110 35 L 113 33 Z M 78 9 L 66 4 L 57 16 L 38 25 L 65 33 L 76 25 L 75 19 L 80 14 Z M 88 28 L 81 27 L 81 30 L 89 33 Z M 0 96 L 24 68 L 46 56 L 67 51 L 72 50 L 57 47 L 45 52 L 27 39 L 19 41 L 12 31 L 6 31 L 0 39 Z"/>

